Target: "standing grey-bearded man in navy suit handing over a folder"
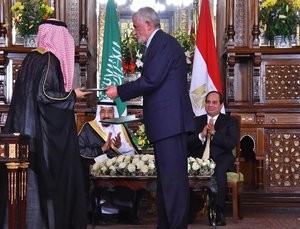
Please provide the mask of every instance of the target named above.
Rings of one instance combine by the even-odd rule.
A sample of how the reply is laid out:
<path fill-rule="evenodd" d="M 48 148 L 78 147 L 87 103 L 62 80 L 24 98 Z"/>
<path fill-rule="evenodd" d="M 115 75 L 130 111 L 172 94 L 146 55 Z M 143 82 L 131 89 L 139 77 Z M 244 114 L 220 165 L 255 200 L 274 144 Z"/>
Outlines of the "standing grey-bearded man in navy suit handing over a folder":
<path fill-rule="evenodd" d="M 187 228 L 186 144 L 194 120 L 185 54 L 177 40 L 160 29 L 160 18 L 152 8 L 139 9 L 132 20 L 134 35 L 147 47 L 141 77 L 118 87 L 109 86 L 106 94 L 119 96 L 122 101 L 143 96 L 144 124 L 158 172 L 158 228 Z"/>

